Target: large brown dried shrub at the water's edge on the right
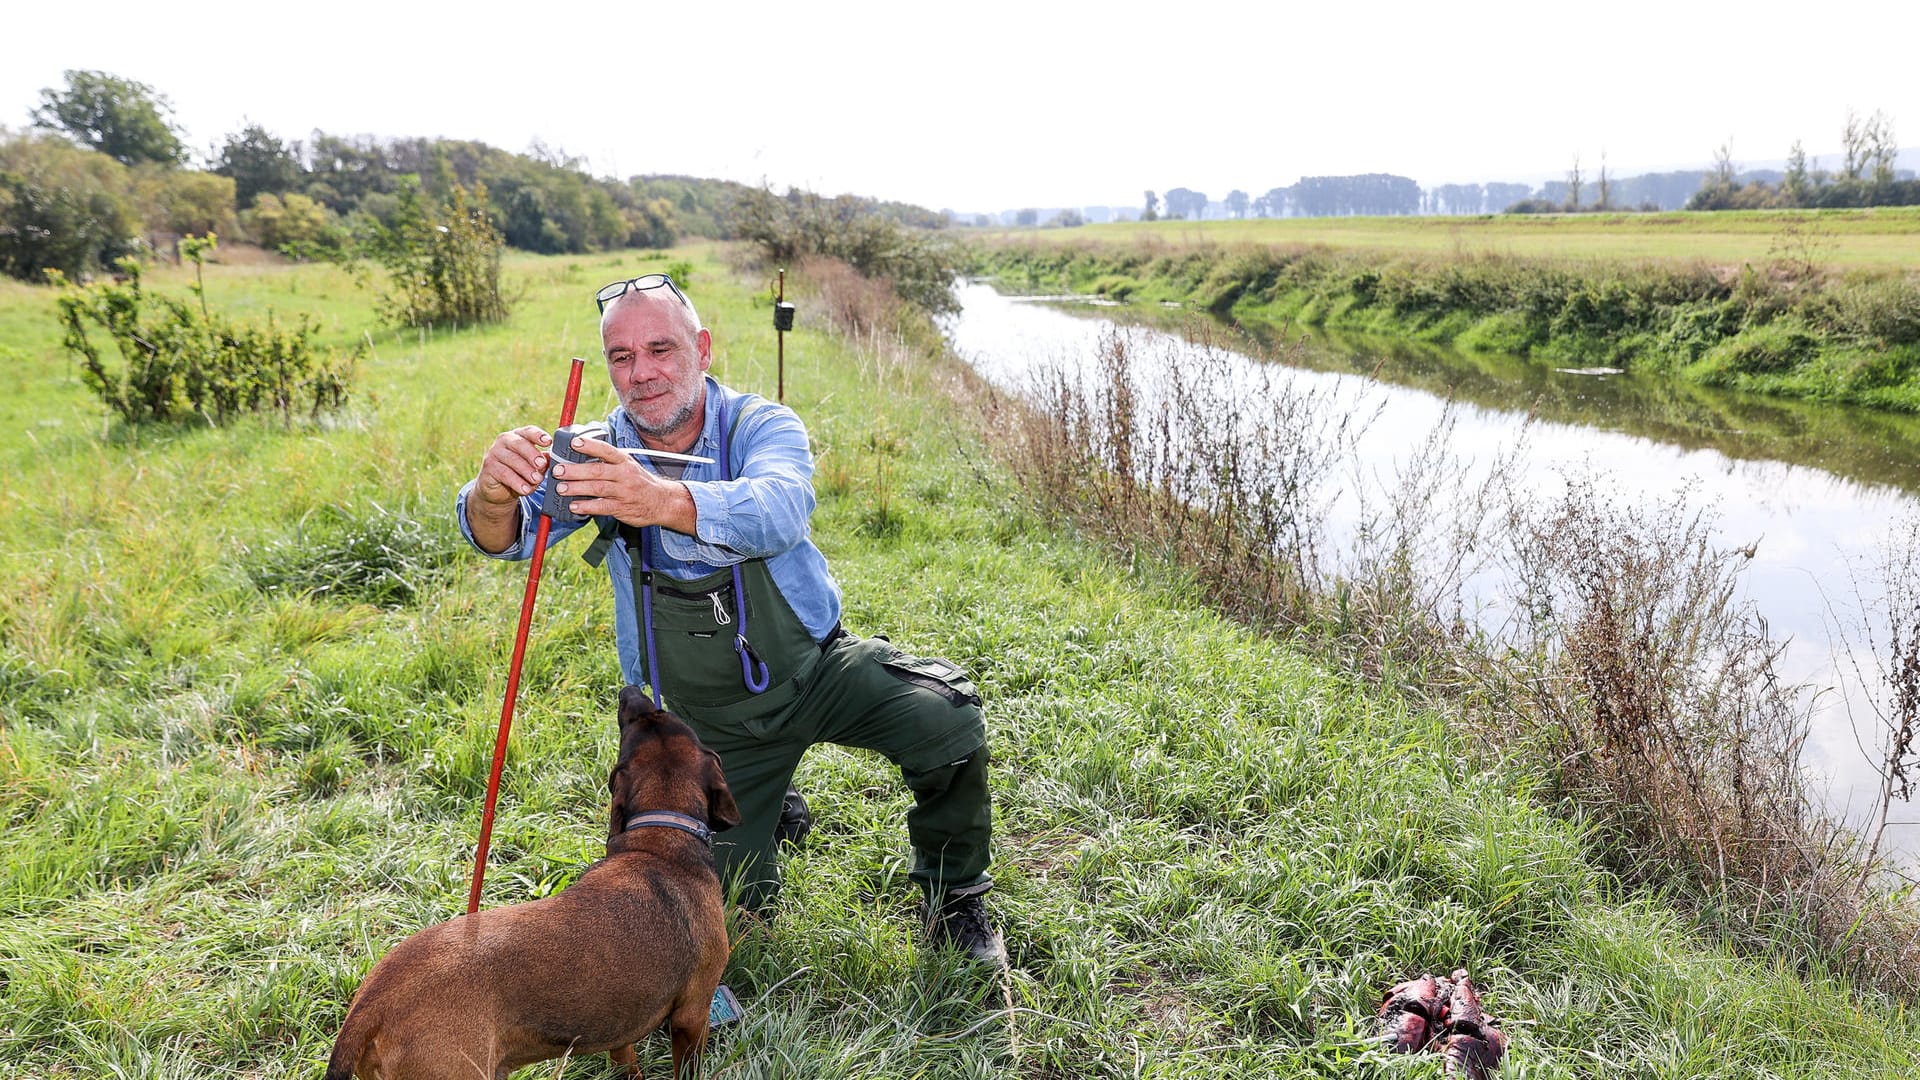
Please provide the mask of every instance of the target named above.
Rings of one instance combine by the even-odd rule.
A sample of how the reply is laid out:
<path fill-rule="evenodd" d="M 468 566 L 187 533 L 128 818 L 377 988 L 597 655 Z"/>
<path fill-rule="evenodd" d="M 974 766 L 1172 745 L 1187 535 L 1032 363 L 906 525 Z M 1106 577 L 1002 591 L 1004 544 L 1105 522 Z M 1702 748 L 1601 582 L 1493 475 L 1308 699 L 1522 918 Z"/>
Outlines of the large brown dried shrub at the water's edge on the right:
<path fill-rule="evenodd" d="M 1519 655 L 1544 657 L 1524 726 L 1559 794 L 1638 853 L 1632 876 L 1811 899 L 1837 849 L 1799 767 L 1786 644 L 1740 600 L 1751 550 L 1718 548 L 1682 500 L 1617 507 L 1576 480 L 1517 509 Z"/>

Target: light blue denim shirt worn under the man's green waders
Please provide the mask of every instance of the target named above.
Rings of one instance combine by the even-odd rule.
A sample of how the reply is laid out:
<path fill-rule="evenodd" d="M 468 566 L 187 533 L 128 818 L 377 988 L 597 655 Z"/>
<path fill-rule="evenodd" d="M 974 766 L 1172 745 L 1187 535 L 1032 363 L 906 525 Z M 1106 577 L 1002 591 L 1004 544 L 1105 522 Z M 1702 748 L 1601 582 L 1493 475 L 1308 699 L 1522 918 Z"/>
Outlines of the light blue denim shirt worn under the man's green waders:
<path fill-rule="evenodd" d="M 806 425 L 785 405 L 764 402 L 747 413 L 733 429 L 733 480 L 722 480 L 720 467 L 720 405 L 732 425 L 739 409 L 753 400 L 753 394 L 728 390 L 712 377 L 707 379 L 707 423 L 701 438 L 687 448 L 695 457 L 712 457 L 712 465 L 687 465 L 680 477 L 693 496 L 695 534 L 659 530 L 655 550 L 655 573 L 691 580 L 716 569 L 726 569 L 747 559 L 766 559 L 766 569 L 774 575 L 774 584 L 787 598 L 793 613 L 814 636 L 826 640 L 839 623 L 841 592 L 828 559 L 814 548 L 814 455 L 806 442 Z M 626 409 L 614 409 L 607 417 L 614 446 L 643 446 L 639 430 L 628 419 Z M 641 467 L 653 463 L 639 459 Z M 474 480 L 468 480 L 455 500 L 455 517 L 461 523 L 461 536 L 474 542 L 472 525 L 467 521 L 467 496 L 472 494 Z M 505 552 L 480 552 L 493 559 L 530 559 L 534 540 L 540 532 L 541 492 L 520 496 L 520 536 Z M 593 519 L 595 525 L 599 519 Z M 547 532 L 551 552 L 561 538 L 572 534 L 586 523 L 553 523 Z M 597 530 L 589 530 L 597 532 Z M 620 648 L 620 673 L 632 684 L 645 682 L 641 665 L 639 617 L 634 611 L 634 577 L 626 544 L 614 540 L 607 552 L 607 577 L 612 580 L 612 626 L 614 642 Z"/>

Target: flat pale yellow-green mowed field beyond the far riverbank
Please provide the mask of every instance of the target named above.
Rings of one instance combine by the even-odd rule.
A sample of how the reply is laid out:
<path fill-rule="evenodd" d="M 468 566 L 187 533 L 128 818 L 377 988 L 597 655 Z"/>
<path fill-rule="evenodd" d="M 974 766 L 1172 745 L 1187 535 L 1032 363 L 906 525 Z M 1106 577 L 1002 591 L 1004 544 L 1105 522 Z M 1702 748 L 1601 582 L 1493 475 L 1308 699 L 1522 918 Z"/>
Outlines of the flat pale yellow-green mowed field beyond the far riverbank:
<path fill-rule="evenodd" d="M 1920 267 L 1920 208 L 1121 221 L 966 234 L 1035 244 L 1325 244 L 1430 256 L 1705 259 L 1728 265 L 1782 259 L 1830 267 Z"/>

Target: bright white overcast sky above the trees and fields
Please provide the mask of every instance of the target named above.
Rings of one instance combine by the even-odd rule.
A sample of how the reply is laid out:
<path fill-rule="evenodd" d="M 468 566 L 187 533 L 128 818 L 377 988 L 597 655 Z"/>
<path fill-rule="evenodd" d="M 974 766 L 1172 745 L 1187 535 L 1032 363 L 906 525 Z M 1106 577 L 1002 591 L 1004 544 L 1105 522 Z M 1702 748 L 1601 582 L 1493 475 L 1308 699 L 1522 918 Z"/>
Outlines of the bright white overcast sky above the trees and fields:
<path fill-rule="evenodd" d="M 25 12 L 21 10 L 25 8 Z M 1920 4 L 15 4 L 0 123 L 65 69 L 148 83 L 205 152 L 246 121 L 532 140 L 960 211 L 1215 200 L 1302 175 L 1423 186 L 1736 163 L 1847 110 L 1920 144 Z M 188 13 L 190 12 L 190 13 Z M 1736 12 L 1751 12 L 1732 21 Z"/>

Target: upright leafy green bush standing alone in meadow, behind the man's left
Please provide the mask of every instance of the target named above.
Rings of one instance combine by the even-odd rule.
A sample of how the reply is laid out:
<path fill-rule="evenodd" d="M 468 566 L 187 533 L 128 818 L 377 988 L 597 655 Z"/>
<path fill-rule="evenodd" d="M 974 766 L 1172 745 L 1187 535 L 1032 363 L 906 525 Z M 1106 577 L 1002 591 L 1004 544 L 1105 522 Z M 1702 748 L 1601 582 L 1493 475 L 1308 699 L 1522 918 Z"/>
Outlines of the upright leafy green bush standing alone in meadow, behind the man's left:
<path fill-rule="evenodd" d="M 499 292 L 505 248 L 486 211 L 486 186 L 453 184 L 445 204 L 430 204 L 415 183 L 399 188 L 394 221 L 378 225 L 367 248 L 392 277 L 382 317 L 401 327 L 470 327 L 507 321 Z"/>

